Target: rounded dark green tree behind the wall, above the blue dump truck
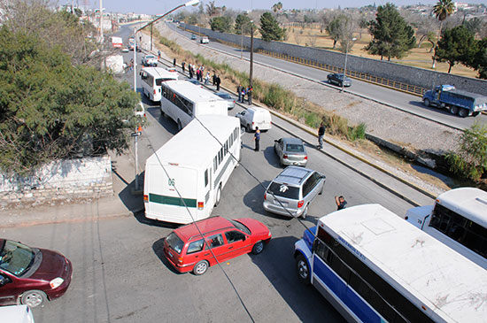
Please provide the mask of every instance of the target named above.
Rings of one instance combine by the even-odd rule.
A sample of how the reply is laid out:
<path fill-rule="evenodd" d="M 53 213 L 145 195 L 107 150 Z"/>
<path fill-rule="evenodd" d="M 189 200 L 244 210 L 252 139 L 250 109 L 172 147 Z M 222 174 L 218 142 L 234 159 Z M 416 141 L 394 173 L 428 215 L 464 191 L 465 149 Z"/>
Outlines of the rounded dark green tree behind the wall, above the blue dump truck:
<path fill-rule="evenodd" d="M 475 56 L 476 42 L 467 27 L 459 26 L 452 29 L 444 29 L 440 41 L 435 49 L 436 57 L 440 62 L 447 62 L 450 67 L 448 73 L 452 71 L 452 66 L 456 63 L 468 65 Z"/>

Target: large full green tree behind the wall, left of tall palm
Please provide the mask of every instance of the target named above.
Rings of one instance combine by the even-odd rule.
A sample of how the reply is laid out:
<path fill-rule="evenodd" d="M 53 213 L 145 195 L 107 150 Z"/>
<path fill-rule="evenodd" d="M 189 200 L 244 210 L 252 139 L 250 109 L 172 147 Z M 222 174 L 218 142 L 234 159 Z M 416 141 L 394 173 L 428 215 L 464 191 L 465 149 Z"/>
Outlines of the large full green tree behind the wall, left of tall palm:
<path fill-rule="evenodd" d="M 380 5 L 375 20 L 370 20 L 368 30 L 372 40 L 366 50 L 372 55 L 388 58 L 403 58 L 408 50 L 414 48 L 416 37 L 413 27 L 401 17 L 394 4 Z"/>

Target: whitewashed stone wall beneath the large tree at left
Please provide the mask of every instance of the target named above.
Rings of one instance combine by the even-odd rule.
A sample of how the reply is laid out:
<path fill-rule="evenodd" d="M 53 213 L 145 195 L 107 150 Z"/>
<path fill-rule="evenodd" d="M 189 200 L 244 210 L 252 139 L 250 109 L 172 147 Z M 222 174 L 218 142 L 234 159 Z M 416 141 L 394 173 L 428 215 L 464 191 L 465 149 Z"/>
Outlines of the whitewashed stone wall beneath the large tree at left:
<path fill-rule="evenodd" d="M 0 174 L 0 209 L 112 194 L 110 156 L 54 161 L 28 177 Z"/>

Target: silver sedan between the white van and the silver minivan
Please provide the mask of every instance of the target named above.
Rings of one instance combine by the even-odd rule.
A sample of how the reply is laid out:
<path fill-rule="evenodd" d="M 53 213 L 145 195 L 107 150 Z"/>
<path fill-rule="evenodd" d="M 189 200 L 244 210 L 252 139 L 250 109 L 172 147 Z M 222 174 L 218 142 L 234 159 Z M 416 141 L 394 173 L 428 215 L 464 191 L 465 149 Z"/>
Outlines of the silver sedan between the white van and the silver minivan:
<path fill-rule="evenodd" d="M 274 140 L 274 151 L 280 165 L 305 166 L 308 162 L 305 145 L 298 138 L 281 138 Z"/>

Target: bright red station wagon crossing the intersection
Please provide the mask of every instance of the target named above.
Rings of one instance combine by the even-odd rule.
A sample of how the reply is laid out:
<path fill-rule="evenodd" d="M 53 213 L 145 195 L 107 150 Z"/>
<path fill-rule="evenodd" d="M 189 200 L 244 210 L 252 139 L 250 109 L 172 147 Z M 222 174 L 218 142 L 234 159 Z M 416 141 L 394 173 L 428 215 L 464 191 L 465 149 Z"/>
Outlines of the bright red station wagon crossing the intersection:
<path fill-rule="evenodd" d="M 175 229 L 166 237 L 164 253 L 178 272 L 201 275 L 216 264 L 215 257 L 222 262 L 249 252 L 257 255 L 270 240 L 269 229 L 256 219 L 214 217 Z"/>

